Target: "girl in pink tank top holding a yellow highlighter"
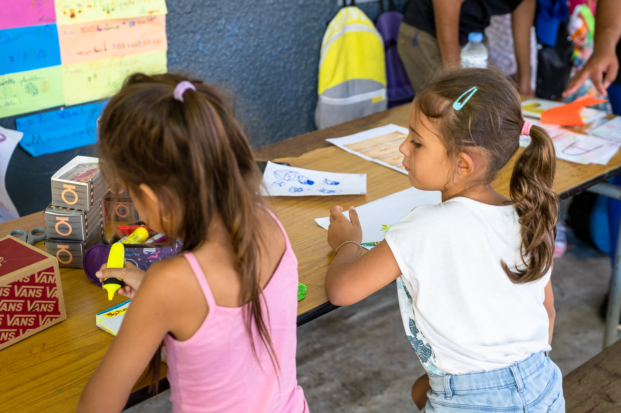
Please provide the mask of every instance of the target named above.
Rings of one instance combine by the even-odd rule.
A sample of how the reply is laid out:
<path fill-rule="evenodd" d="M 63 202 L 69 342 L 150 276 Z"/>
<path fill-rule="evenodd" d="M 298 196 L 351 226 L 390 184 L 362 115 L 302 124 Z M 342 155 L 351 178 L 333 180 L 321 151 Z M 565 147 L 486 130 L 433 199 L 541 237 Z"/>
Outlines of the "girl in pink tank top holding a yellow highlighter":
<path fill-rule="evenodd" d="M 101 166 L 183 254 L 100 278 L 132 298 L 78 412 L 120 412 L 164 344 L 174 413 L 304 413 L 296 380 L 297 259 L 263 206 L 261 174 L 227 97 L 180 74 L 133 74 L 99 123 Z M 140 160 L 140 162 L 137 162 Z M 118 187 L 119 185 L 120 188 Z"/>

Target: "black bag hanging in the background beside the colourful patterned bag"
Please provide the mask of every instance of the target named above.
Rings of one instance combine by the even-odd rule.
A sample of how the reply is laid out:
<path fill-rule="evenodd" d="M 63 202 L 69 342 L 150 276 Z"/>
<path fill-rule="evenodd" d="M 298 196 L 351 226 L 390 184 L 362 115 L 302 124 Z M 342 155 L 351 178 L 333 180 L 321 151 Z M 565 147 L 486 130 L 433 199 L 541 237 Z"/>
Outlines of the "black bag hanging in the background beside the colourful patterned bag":
<path fill-rule="evenodd" d="M 542 99 L 555 100 L 561 97 L 571 74 L 571 55 L 574 43 L 567 31 L 568 22 L 558 27 L 556 46 L 538 44 L 537 53 L 537 90 L 535 95 Z"/>

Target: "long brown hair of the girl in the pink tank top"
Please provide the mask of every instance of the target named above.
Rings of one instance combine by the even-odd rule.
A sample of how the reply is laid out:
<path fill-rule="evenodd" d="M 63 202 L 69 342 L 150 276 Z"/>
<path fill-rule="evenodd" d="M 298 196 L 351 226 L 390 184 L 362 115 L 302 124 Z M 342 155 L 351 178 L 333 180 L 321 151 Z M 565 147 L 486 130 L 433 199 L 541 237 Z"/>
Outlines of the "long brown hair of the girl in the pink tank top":
<path fill-rule="evenodd" d="M 173 97 L 181 81 L 196 87 L 184 92 L 183 102 Z M 244 314 L 252 352 L 258 360 L 254 324 L 276 368 L 260 300 L 261 174 L 227 96 L 184 74 L 132 74 L 101 115 L 99 156 L 108 182 L 121 182 L 135 197 L 142 195 L 140 184 L 153 189 L 161 227 L 183 238 L 183 251 L 201 246 L 214 215 L 222 217 L 235 252 L 240 298 L 249 303 Z M 155 389 L 160 350 L 150 363 Z"/>

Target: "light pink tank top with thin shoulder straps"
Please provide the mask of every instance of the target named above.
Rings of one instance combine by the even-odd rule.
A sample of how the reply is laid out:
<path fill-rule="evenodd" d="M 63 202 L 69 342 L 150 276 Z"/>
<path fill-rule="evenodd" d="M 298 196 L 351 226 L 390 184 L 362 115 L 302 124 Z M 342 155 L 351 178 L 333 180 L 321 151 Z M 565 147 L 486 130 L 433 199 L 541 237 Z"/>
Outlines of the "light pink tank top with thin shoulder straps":
<path fill-rule="evenodd" d="M 188 340 L 179 341 L 170 334 L 164 339 L 173 413 L 308 412 L 304 391 L 296 379 L 297 259 L 283 225 L 270 215 L 286 242 L 283 258 L 263 290 L 262 301 L 263 320 L 280 371 L 274 370 L 253 323 L 260 361 L 257 363 L 243 321 L 245 306 L 216 304 L 196 257 L 186 252 L 209 313 Z"/>

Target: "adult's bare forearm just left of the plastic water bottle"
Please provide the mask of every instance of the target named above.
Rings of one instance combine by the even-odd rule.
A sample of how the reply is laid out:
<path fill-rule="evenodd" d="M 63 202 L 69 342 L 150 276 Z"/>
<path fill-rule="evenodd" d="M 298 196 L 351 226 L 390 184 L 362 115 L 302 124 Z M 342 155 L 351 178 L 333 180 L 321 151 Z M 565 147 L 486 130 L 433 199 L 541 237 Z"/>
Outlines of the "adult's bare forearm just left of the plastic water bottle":
<path fill-rule="evenodd" d="M 465 0 L 433 0 L 435 35 L 444 66 L 460 64 L 460 13 Z"/>

